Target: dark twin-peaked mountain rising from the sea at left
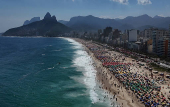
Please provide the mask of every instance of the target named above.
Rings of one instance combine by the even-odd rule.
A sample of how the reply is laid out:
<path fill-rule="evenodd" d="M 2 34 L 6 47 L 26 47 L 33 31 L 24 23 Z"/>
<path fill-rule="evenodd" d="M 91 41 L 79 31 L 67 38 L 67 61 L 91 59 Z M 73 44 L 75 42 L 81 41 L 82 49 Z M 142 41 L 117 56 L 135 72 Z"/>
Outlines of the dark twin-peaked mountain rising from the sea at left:
<path fill-rule="evenodd" d="M 56 17 L 51 17 L 48 12 L 43 20 L 9 29 L 3 36 L 58 36 L 69 31 L 69 27 L 57 22 Z"/>

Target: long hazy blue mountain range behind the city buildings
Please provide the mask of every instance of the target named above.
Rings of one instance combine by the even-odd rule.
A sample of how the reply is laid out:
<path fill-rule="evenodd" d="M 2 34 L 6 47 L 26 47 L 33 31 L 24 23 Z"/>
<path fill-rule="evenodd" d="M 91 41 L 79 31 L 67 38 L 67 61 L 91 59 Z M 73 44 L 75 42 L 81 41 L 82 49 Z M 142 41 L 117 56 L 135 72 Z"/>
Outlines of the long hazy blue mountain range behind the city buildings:
<path fill-rule="evenodd" d="M 104 29 L 108 26 L 113 29 L 118 28 L 122 31 L 125 29 L 147 29 L 149 27 L 168 29 L 170 17 L 156 15 L 152 18 L 151 16 L 144 14 L 137 17 L 128 16 L 124 19 L 102 19 L 89 15 L 72 17 L 70 21 L 63 24 L 79 31 Z"/>

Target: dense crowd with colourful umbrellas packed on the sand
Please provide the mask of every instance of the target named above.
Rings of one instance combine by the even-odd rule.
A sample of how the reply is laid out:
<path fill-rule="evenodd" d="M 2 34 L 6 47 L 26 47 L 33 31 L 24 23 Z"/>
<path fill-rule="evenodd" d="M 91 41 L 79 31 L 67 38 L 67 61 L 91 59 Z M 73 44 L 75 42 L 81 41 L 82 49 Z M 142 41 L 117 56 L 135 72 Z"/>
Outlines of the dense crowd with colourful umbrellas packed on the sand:
<path fill-rule="evenodd" d="M 102 62 L 103 67 L 119 81 L 121 85 L 125 87 L 128 92 L 131 92 L 136 96 L 139 102 L 143 103 L 145 107 L 169 107 L 170 100 L 165 97 L 166 94 L 161 91 L 161 86 L 157 84 L 159 80 L 155 76 L 153 78 L 153 72 L 148 71 L 146 73 L 137 70 L 132 72 L 132 67 L 140 69 L 140 65 L 126 61 L 126 57 L 123 54 L 111 54 L 104 46 L 96 45 L 94 43 L 86 43 L 84 45 L 94 54 L 95 58 Z M 169 85 L 168 87 L 169 88 Z"/>

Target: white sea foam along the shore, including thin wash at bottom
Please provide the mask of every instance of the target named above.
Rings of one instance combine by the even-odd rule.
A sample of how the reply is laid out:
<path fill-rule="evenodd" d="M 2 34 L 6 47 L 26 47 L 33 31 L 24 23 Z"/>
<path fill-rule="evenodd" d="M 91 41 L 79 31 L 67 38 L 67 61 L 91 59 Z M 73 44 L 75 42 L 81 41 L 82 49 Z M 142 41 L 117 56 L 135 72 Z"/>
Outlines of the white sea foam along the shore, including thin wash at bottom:
<path fill-rule="evenodd" d="M 70 44 L 73 45 L 73 49 L 76 49 L 75 56 L 73 59 L 73 66 L 77 67 L 77 71 L 83 73 L 83 77 L 70 77 L 71 79 L 74 79 L 75 81 L 85 84 L 88 89 L 88 94 L 91 99 L 91 103 L 100 103 L 104 106 L 110 106 L 111 103 L 109 100 L 103 101 L 99 99 L 103 99 L 104 91 L 98 88 L 98 83 L 96 83 L 96 70 L 94 68 L 93 60 L 88 55 L 88 53 L 83 49 L 83 45 L 76 42 L 73 39 L 70 38 L 64 38 L 70 42 Z"/>

